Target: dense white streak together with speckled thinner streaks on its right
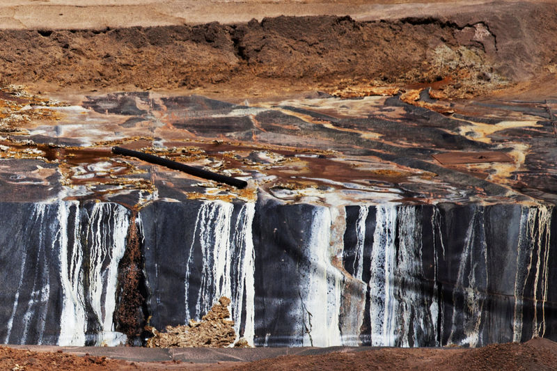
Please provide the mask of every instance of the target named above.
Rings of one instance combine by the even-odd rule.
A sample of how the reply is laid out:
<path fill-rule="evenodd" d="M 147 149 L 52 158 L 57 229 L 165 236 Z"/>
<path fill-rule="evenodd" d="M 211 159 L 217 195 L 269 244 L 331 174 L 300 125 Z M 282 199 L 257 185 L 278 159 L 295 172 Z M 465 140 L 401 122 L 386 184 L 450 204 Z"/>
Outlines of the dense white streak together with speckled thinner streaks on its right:
<path fill-rule="evenodd" d="M 420 333 L 435 332 L 439 316 L 435 291 L 421 290 L 421 213 L 413 205 L 377 206 L 371 246 L 371 345 L 421 345 Z M 424 310 L 429 306 L 430 310 Z"/>

